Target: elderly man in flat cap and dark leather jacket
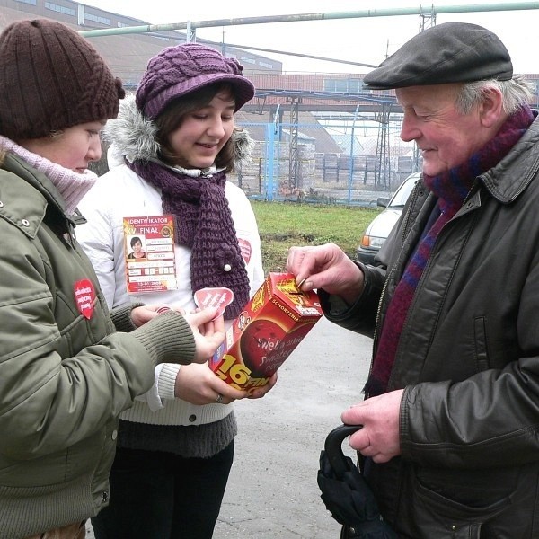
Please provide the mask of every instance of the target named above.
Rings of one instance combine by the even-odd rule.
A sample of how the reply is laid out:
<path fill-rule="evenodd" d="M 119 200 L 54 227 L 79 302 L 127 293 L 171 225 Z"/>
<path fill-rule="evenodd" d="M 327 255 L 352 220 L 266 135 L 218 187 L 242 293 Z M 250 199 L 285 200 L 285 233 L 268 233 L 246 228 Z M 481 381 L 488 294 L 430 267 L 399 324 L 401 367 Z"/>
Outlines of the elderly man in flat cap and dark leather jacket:
<path fill-rule="evenodd" d="M 539 537 L 539 121 L 507 49 L 440 24 L 365 77 L 394 88 L 423 174 L 376 266 L 333 244 L 287 268 L 374 336 L 350 445 L 400 537 Z M 346 533 L 346 532 L 345 532 Z"/>

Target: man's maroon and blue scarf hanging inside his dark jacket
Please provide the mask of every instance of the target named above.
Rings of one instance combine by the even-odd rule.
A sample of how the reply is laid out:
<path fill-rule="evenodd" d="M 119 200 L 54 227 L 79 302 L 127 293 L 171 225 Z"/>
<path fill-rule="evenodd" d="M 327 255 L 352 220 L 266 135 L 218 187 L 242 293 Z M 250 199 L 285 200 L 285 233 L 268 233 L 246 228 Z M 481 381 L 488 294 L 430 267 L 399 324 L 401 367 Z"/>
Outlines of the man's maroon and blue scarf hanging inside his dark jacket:
<path fill-rule="evenodd" d="M 479 152 L 472 155 L 467 163 L 448 172 L 443 172 L 439 176 L 433 177 L 423 174 L 427 188 L 438 197 L 440 215 L 420 241 L 395 288 L 385 315 L 373 368 L 365 385 L 367 397 L 387 391 L 402 326 L 437 235 L 447 221 L 455 216 L 455 213 L 462 207 L 475 178 L 488 171 L 508 154 L 509 150 L 517 144 L 518 139 L 524 135 L 534 118 L 532 110 L 527 106 L 523 107 L 510 116 L 499 129 L 496 137 L 492 138 Z"/>

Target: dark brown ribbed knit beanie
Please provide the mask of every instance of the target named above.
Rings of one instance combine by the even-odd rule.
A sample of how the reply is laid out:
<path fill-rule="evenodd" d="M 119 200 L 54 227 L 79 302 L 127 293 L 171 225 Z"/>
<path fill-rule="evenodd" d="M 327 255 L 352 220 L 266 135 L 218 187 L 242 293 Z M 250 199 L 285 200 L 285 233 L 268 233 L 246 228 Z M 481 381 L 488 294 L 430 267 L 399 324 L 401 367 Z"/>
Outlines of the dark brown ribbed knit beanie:
<path fill-rule="evenodd" d="M 0 135 L 15 141 L 116 118 L 125 96 L 93 46 L 66 25 L 14 22 L 0 35 Z"/>

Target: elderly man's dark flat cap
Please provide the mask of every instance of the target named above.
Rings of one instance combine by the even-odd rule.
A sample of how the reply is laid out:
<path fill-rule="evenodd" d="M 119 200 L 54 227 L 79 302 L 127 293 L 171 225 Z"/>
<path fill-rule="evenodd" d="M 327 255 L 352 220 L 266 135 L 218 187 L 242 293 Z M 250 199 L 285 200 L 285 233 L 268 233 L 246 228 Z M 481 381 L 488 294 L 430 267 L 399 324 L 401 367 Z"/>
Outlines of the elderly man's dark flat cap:
<path fill-rule="evenodd" d="M 508 49 L 476 24 L 445 22 L 411 38 L 365 75 L 367 88 L 389 90 L 426 84 L 470 83 L 513 76 Z"/>

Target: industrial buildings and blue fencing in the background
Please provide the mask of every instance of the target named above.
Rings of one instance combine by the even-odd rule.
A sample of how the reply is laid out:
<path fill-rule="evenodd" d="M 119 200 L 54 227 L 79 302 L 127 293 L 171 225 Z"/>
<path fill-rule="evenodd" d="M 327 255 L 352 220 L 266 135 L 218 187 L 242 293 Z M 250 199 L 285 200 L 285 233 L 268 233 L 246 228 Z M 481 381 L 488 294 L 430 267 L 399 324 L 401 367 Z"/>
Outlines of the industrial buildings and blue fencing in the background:
<path fill-rule="evenodd" d="M 82 32 L 149 25 L 72 0 L 0 0 L 0 30 L 36 17 Z M 133 91 L 148 59 L 191 40 L 188 35 L 141 31 L 88 39 Z M 251 48 L 199 42 L 235 57 L 257 89 L 236 114 L 236 123 L 256 141 L 252 163 L 234 177 L 249 196 L 369 204 L 377 191 L 394 190 L 420 168 L 414 145 L 398 136 L 401 110 L 393 92 L 366 92 L 357 74 L 285 74 L 281 62 Z M 539 75 L 527 76 L 539 86 Z"/>

